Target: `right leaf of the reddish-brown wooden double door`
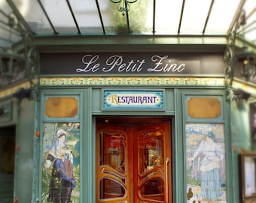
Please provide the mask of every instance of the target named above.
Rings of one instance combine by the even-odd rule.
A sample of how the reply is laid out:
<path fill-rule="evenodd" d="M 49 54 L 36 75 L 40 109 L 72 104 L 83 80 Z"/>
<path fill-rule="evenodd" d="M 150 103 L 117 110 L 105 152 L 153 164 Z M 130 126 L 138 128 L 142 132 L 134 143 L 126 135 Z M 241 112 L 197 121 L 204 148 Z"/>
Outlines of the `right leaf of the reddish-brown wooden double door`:
<path fill-rule="evenodd" d="M 138 202 L 171 202 L 169 122 L 141 124 L 134 131 L 138 154 L 134 175 Z M 137 183 L 137 184 L 136 184 Z"/>

